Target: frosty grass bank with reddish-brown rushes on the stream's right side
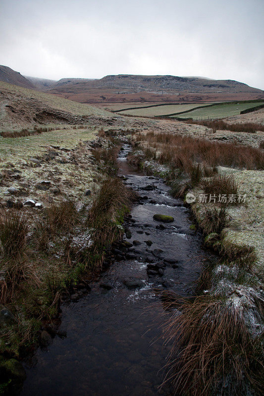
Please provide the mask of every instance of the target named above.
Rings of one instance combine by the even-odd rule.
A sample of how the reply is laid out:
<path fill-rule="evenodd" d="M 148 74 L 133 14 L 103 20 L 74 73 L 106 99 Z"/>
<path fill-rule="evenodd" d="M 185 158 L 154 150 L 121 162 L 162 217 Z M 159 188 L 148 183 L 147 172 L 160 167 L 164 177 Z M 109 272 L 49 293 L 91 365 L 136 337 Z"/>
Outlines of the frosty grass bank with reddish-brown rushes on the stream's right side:
<path fill-rule="evenodd" d="M 132 144 L 131 162 L 162 165 L 174 197 L 193 194 L 205 246 L 219 255 L 203 264 L 196 298 L 168 303 L 167 380 L 175 394 L 261 395 L 263 151 L 159 133 L 136 134 Z"/>

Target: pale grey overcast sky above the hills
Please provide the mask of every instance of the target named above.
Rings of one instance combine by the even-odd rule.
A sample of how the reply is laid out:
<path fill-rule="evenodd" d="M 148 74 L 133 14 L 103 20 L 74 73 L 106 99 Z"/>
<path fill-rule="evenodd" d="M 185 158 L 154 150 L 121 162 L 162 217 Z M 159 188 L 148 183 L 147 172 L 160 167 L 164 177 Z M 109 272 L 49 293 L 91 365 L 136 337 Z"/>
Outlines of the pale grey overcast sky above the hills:
<path fill-rule="evenodd" d="M 0 0 L 0 64 L 58 80 L 171 74 L 264 89 L 263 0 Z"/>

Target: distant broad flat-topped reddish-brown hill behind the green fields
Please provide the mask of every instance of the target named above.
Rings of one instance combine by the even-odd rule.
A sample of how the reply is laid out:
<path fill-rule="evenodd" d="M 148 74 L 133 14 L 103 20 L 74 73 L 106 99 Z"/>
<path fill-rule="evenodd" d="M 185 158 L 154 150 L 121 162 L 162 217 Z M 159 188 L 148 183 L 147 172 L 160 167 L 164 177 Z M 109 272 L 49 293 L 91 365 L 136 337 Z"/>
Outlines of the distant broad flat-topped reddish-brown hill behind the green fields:
<path fill-rule="evenodd" d="M 98 80 L 62 79 L 49 92 L 87 103 L 263 99 L 262 90 L 234 80 L 198 77 L 109 75 Z"/>

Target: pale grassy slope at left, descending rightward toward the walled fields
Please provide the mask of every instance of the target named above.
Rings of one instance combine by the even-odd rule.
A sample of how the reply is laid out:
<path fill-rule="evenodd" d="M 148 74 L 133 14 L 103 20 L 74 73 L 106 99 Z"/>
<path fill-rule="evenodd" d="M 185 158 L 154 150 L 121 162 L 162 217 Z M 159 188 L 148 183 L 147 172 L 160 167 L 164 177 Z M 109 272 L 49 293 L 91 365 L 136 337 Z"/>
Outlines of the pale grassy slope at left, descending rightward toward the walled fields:
<path fill-rule="evenodd" d="M 111 125 L 118 118 L 98 107 L 0 82 L 0 130 L 33 124 Z"/>

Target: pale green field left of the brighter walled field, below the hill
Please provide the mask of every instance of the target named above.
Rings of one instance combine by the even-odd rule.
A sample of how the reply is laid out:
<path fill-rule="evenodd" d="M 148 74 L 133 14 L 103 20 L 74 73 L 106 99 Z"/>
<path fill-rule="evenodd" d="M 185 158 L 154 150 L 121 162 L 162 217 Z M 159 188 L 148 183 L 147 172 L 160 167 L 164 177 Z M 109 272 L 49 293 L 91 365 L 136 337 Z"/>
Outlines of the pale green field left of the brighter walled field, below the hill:
<path fill-rule="evenodd" d="M 145 116 L 145 117 L 157 117 L 157 116 L 162 116 L 162 115 L 167 115 L 167 114 L 173 114 L 173 113 L 180 113 L 182 111 L 187 111 L 191 110 L 192 108 L 198 107 L 198 106 L 206 106 L 211 104 L 212 102 L 209 103 L 192 103 L 192 104 L 164 104 L 161 106 L 151 106 L 144 108 L 139 107 L 133 110 L 123 110 L 119 111 L 119 114 L 128 114 L 128 115 L 134 115 L 134 116 Z M 133 106 L 131 106 L 133 107 Z M 136 107 L 136 106 L 135 106 Z M 124 108 L 124 107 L 123 107 Z"/>

